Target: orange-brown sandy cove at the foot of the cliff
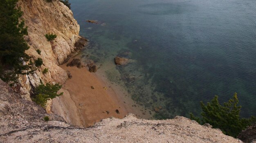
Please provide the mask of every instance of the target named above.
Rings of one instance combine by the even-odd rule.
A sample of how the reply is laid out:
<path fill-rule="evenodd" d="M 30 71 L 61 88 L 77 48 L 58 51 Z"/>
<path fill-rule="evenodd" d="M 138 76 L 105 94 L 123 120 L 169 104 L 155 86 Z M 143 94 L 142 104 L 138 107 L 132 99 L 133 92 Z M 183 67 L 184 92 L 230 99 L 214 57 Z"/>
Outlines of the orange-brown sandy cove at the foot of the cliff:
<path fill-rule="evenodd" d="M 51 110 L 68 123 L 87 127 L 101 119 L 123 118 L 128 113 L 144 119 L 151 117 L 150 114 L 142 112 L 142 107 L 133 106 L 136 104 L 130 97 L 125 96 L 127 93 L 118 85 L 108 83 L 102 74 L 91 73 L 86 67 L 66 65 L 67 63 L 60 67 L 70 71 L 72 78 L 60 90 L 63 95 L 53 99 Z"/>

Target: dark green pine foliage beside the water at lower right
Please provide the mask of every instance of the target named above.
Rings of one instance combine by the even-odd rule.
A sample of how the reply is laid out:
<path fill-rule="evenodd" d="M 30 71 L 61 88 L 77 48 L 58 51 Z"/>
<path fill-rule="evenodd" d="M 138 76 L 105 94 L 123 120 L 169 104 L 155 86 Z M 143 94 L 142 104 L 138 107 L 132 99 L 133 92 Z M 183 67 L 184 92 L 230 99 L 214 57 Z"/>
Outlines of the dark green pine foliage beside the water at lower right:
<path fill-rule="evenodd" d="M 191 119 L 200 124 L 209 123 L 213 128 L 219 128 L 224 134 L 232 137 L 236 137 L 242 130 L 256 121 L 255 117 L 248 119 L 240 117 L 241 106 L 238 106 L 237 93 L 228 102 L 224 102 L 223 106 L 219 104 L 218 96 L 215 96 L 206 105 L 201 102 L 201 107 L 201 121 L 193 114 L 191 114 Z"/>

